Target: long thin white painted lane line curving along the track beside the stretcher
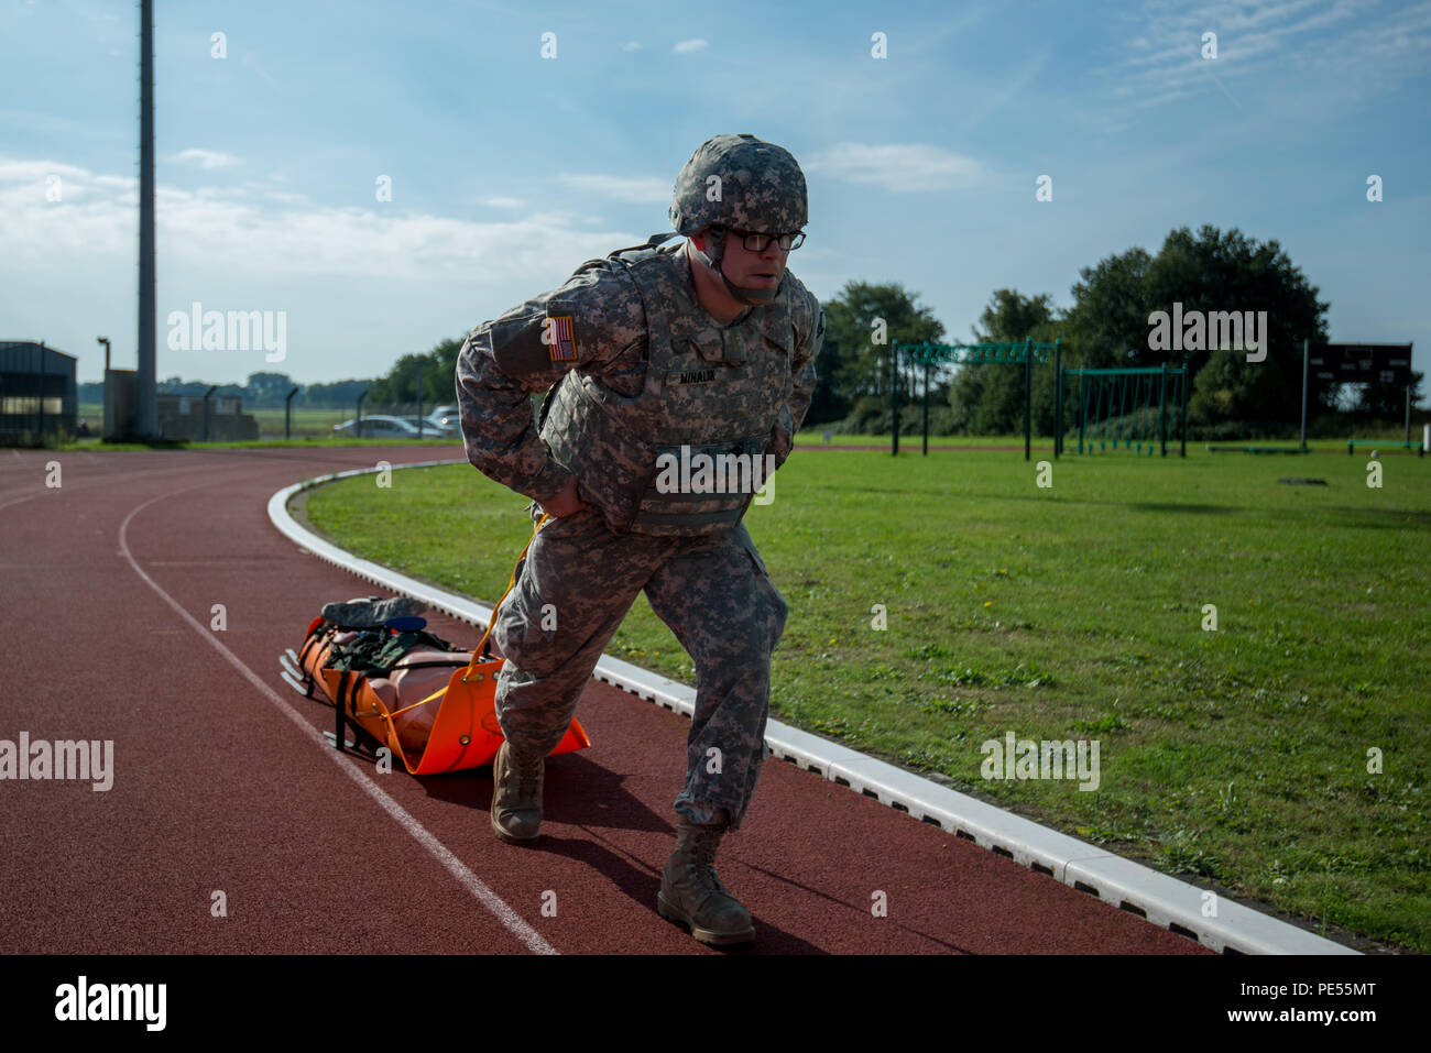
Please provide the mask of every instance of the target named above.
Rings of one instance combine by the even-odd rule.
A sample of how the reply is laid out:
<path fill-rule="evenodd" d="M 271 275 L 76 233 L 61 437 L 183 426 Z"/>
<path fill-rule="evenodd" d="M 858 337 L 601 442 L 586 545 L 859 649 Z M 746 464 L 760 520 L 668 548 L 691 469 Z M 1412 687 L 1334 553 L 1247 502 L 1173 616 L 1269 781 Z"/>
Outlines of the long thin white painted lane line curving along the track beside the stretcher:
<path fill-rule="evenodd" d="M 534 954 L 560 953 L 557 951 L 555 947 L 547 943 L 535 929 L 527 924 L 515 910 L 508 907 L 497 893 L 488 888 L 481 881 L 481 878 L 477 877 L 477 874 L 468 870 L 467 866 L 462 863 L 462 860 L 454 856 L 452 851 L 445 844 L 442 844 L 442 841 L 434 837 L 421 823 L 418 823 L 418 820 L 415 820 L 408 813 L 406 808 L 404 808 L 401 804 L 392 800 L 386 794 L 386 791 L 384 791 L 382 787 L 379 787 L 372 780 L 372 777 L 368 775 L 368 773 L 365 773 L 352 761 L 346 760 L 332 745 L 329 745 L 328 740 L 323 738 L 323 734 L 318 731 L 318 728 L 315 728 L 312 724 L 309 724 L 298 710 L 289 705 L 288 700 L 282 698 L 276 691 L 273 691 L 273 688 L 270 688 L 266 682 L 263 682 L 262 677 L 259 677 L 256 672 L 253 672 L 253 670 L 245 665 L 243 661 L 236 654 L 233 654 L 233 651 L 220 644 L 212 632 L 209 632 L 193 615 L 190 615 L 186 609 L 183 609 L 183 607 L 173 597 L 165 592 L 159 587 L 159 584 L 147 574 L 145 574 L 143 568 L 140 568 L 139 562 L 129 551 L 130 519 L 133 519 L 136 515 L 139 515 L 142 511 L 149 508 L 149 505 L 155 504 L 156 501 L 163 501 L 165 498 L 172 498 L 177 496 L 179 494 L 186 494 L 190 489 L 199 489 L 200 486 L 212 486 L 212 485 L 213 485 L 212 482 L 203 482 L 195 486 L 185 486 L 183 489 L 170 491 L 167 494 L 159 494 L 157 496 L 153 496 L 149 501 L 139 505 L 137 508 L 135 508 L 135 511 L 132 511 L 127 516 L 124 516 L 124 522 L 119 528 L 120 555 L 123 555 L 129 561 L 129 565 L 135 568 L 135 574 L 143 578 L 145 582 L 149 585 L 149 588 L 157 592 L 160 598 L 166 604 L 169 604 L 180 618 L 189 622 L 189 625 L 193 628 L 195 632 L 197 632 L 207 642 L 213 644 L 213 647 L 219 651 L 219 654 L 222 654 L 233 668 L 242 672 L 243 677 L 250 684 L 253 684 L 253 687 L 258 691 L 260 691 L 265 698 L 273 702 L 273 705 L 276 705 L 283 712 L 283 715 L 286 715 L 289 720 L 293 721 L 293 724 L 298 725 L 299 731 L 302 731 L 303 735 L 308 737 L 308 741 L 311 741 L 313 745 L 322 750 L 323 754 L 326 754 L 335 764 L 338 764 L 338 767 L 342 771 L 348 774 L 349 778 L 352 778 L 359 787 L 362 787 L 368 793 L 368 795 L 372 797 L 382 807 L 384 811 L 392 816 L 404 830 L 412 834 L 414 840 L 424 848 L 426 848 L 428 853 L 431 853 L 438 863 L 446 867 L 448 873 L 451 873 L 462 884 L 464 888 L 472 893 L 472 896 L 475 896 L 482 903 L 484 907 L 492 911 L 492 914 L 497 916 L 497 920 L 501 921 L 504 926 L 507 926 L 507 929 L 512 933 L 512 936 L 521 940 L 522 944 L 525 944 L 529 951 L 532 951 Z"/>

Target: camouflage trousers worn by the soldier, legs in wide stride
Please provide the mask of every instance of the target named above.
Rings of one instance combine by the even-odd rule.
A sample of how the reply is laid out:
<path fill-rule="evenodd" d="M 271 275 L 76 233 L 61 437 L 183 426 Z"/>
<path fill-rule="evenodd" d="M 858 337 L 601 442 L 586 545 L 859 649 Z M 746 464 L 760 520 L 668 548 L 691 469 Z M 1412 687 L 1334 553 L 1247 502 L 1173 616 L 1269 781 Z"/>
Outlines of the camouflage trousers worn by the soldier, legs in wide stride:
<path fill-rule="evenodd" d="M 764 763 L 770 655 L 786 625 L 786 601 L 741 524 L 678 538 L 617 535 L 591 509 L 548 519 L 492 627 L 507 660 L 497 682 L 502 734 L 524 751 L 557 748 L 643 589 L 695 662 L 675 811 L 711 823 L 726 808 L 738 827 Z"/>

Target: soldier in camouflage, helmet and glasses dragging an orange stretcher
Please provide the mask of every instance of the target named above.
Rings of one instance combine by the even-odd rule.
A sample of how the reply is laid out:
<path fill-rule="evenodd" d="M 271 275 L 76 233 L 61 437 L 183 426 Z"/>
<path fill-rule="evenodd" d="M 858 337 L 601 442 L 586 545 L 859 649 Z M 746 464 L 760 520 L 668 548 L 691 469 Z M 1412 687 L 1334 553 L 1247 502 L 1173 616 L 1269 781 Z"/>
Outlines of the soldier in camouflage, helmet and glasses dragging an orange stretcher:
<path fill-rule="evenodd" d="M 790 454 L 824 335 L 819 300 L 786 270 L 806 213 L 788 152 L 717 136 L 675 180 L 670 215 L 687 240 L 654 235 L 588 260 L 555 292 L 474 329 L 456 361 L 468 459 L 531 496 L 534 519 L 550 516 L 492 630 L 507 658 L 492 828 L 515 844 L 539 836 L 545 757 L 645 589 L 697 677 L 657 908 L 705 943 L 756 934 L 714 860 L 764 761 L 786 604 L 740 522 L 760 472 L 730 492 L 684 476 L 690 485 L 673 488 L 674 472 L 658 466 L 734 454 L 777 468 Z M 552 386 L 534 425 L 529 392 Z"/>

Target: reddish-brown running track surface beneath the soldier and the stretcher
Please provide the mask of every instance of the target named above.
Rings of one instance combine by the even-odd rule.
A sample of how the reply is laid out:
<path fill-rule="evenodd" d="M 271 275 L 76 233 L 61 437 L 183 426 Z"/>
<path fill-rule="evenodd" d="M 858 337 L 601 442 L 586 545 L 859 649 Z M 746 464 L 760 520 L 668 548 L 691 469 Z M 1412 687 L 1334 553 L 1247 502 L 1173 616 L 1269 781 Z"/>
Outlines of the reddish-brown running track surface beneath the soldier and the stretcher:
<path fill-rule="evenodd" d="M 322 744 L 332 711 L 286 687 L 278 657 L 369 585 L 302 554 L 265 506 L 373 464 L 0 451 L 0 740 L 114 743 L 109 791 L 0 783 L 0 951 L 718 953 L 654 908 L 685 718 L 592 681 L 578 712 L 594 745 L 548 761 L 528 848 L 491 833 L 489 768 L 419 780 Z M 462 622 L 434 628 L 475 642 Z M 1208 953 L 774 760 L 720 873 L 764 954 Z"/>

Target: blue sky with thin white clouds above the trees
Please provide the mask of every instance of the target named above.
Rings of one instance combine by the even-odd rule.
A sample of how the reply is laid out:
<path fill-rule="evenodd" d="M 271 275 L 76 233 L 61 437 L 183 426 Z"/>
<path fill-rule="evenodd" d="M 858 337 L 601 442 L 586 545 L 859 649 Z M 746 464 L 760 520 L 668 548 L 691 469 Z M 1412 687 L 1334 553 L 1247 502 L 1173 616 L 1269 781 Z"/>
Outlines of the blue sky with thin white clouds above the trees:
<path fill-rule="evenodd" d="M 1278 240 L 1332 341 L 1431 363 L 1431 1 L 156 0 L 155 23 L 160 378 L 381 375 L 667 229 L 727 132 L 800 159 L 790 269 L 821 299 L 897 280 L 967 339 L 995 289 L 1068 306 L 1079 268 L 1212 223 Z M 97 335 L 135 362 L 137 24 L 0 0 L 0 339 L 82 381 Z M 169 349 L 193 302 L 285 312 L 286 359 Z"/>

